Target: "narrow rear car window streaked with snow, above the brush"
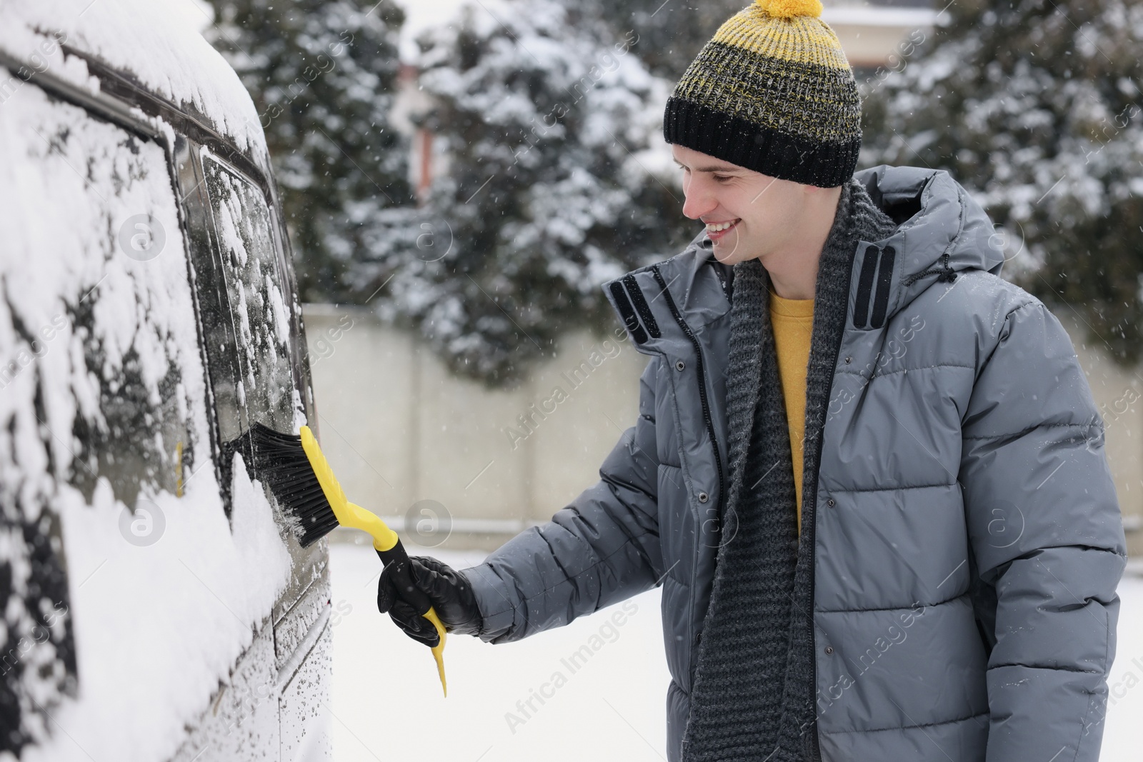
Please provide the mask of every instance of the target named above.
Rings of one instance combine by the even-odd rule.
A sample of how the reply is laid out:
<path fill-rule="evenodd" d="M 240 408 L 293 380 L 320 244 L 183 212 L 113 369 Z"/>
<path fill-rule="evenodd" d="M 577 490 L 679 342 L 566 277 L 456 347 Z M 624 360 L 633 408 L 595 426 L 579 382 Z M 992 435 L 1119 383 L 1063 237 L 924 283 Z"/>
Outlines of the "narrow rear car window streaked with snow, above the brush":
<path fill-rule="evenodd" d="M 270 208 L 256 186 L 209 155 L 203 157 L 202 169 L 239 345 L 238 404 L 249 417 L 247 425 L 291 431 L 289 314 L 278 287 L 281 274 Z M 238 433 L 224 430 L 223 440 Z"/>

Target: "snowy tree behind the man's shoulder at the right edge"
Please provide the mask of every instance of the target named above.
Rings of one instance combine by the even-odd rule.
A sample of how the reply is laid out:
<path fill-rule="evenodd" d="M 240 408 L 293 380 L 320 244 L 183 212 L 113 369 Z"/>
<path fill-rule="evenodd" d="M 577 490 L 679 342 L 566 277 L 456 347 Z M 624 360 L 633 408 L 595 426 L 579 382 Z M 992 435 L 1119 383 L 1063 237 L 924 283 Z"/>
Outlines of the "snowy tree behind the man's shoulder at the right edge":
<path fill-rule="evenodd" d="M 943 3 L 942 3 L 943 5 Z M 865 101 L 864 165 L 948 169 L 1005 274 L 1143 352 L 1143 0 L 959 0 Z"/>

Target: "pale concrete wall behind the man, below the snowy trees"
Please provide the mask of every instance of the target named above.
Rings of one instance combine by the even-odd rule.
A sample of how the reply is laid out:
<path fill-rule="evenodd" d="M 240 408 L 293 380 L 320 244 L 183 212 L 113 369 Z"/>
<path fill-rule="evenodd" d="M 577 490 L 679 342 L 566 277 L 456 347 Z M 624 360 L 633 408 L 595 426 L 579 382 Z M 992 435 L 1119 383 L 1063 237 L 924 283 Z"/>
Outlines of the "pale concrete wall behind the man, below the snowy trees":
<path fill-rule="evenodd" d="M 1125 523 L 1143 527 L 1143 382 L 1068 328 L 1108 430 Z M 521 386 L 451 376 L 409 334 L 360 308 L 305 306 L 321 446 L 346 494 L 422 546 L 491 550 L 599 479 L 638 416 L 647 358 L 574 334 Z M 1128 534 L 1143 554 L 1143 531 Z"/>

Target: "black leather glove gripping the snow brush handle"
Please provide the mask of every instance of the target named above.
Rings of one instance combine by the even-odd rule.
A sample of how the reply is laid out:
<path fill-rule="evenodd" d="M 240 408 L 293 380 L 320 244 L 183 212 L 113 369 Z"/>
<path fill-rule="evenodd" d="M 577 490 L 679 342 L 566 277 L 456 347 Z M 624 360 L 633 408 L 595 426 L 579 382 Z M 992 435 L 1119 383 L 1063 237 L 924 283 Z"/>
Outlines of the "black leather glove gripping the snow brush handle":
<path fill-rule="evenodd" d="M 435 648 L 440 642 L 437 628 L 401 600 L 397 585 L 393 584 L 393 576 L 390 573 L 393 566 L 389 564 L 381 572 L 381 580 L 377 583 L 377 610 L 382 613 L 387 612 L 397 626 L 413 640 Z M 432 601 L 446 632 L 458 635 L 480 634 L 483 620 L 472 586 L 464 575 L 447 563 L 426 556 L 410 558 L 409 572 L 413 583 Z"/>

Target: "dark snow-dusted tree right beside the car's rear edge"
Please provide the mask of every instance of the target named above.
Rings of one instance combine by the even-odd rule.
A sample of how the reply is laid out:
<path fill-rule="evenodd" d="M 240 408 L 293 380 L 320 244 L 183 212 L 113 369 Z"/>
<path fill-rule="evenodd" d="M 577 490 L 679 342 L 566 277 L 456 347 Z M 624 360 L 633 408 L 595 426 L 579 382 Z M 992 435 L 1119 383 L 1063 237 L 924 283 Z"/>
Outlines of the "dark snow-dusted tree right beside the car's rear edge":
<path fill-rule="evenodd" d="M 413 203 L 389 122 L 403 11 L 392 0 L 210 0 L 210 41 L 262 118 L 306 300 L 345 300 L 362 223 Z"/>

